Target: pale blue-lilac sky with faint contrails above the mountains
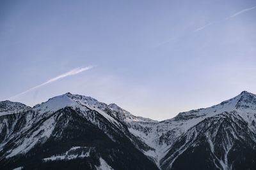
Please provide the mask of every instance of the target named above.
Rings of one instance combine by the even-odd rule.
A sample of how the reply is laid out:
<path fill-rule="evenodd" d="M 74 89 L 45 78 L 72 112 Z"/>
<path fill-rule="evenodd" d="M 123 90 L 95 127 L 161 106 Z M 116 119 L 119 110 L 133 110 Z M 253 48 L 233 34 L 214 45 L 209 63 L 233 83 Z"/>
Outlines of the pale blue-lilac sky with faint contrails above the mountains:
<path fill-rule="evenodd" d="M 164 120 L 256 94 L 256 1 L 0 1 L 0 101 L 70 92 Z"/>

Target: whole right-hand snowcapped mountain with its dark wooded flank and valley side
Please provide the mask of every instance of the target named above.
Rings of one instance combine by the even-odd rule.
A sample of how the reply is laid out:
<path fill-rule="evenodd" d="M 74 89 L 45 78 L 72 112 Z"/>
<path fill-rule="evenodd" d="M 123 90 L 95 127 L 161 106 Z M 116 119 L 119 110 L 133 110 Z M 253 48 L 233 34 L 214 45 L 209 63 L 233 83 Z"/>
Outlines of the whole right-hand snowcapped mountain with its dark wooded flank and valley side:
<path fill-rule="evenodd" d="M 248 149 L 252 149 L 252 153 L 255 155 L 255 106 L 256 96 L 244 91 L 238 96 L 210 108 L 179 113 L 177 117 L 170 120 L 153 124 L 151 122 L 146 124 L 145 122 L 132 122 L 129 131 L 148 146 L 155 148 L 155 152 L 150 153 L 151 156 L 154 157 L 154 160 L 156 160 L 157 166 L 161 169 L 239 169 L 234 166 L 234 164 L 243 164 L 241 167 L 245 167 L 246 163 L 241 160 L 232 160 L 230 148 L 234 149 L 238 141 L 239 143 L 243 143 L 243 145 L 240 145 L 241 147 L 246 147 L 245 144 L 247 142 L 250 144 Z M 205 122 L 207 122 L 207 124 Z M 216 122 L 218 122 L 218 124 L 215 124 Z M 214 126 L 210 126 L 211 124 L 214 124 Z M 202 128 L 202 125 L 204 125 L 204 128 Z M 212 128 L 211 131 L 210 127 Z M 203 131 L 203 129 L 205 129 L 205 131 Z M 242 134 L 241 131 L 246 134 Z M 220 132 L 223 134 L 219 134 Z M 221 138 L 216 139 L 217 134 L 220 135 Z M 243 137 L 243 135 L 245 137 Z M 209 138 L 209 136 L 211 136 L 211 138 Z M 244 138 L 243 140 L 241 139 L 242 137 Z M 221 140 L 223 143 L 220 144 Z M 192 142 L 195 141 L 196 143 L 193 144 Z M 181 145 L 182 143 L 183 145 Z M 204 154 L 206 154 L 206 152 L 204 154 L 201 153 L 202 155 L 198 155 L 199 153 L 193 151 L 189 154 L 189 157 L 186 157 L 186 160 L 182 160 L 183 162 L 180 160 L 180 157 L 183 157 L 183 154 L 185 154 L 187 150 L 191 148 L 195 149 L 195 146 L 199 144 L 204 144 L 204 149 L 206 148 L 205 146 L 211 146 L 209 147 L 210 149 L 207 150 L 207 152 L 211 153 L 207 154 L 212 154 L 214 157 L 216 156 L 215 154 L 217 154 L 218 159 L 214 160 L 211 158 L 205 160 L 202 158 L 205 157 Z M 219 145 L 222 145 L 222 148 L 218 148 Z M 223 152 L 224 150 L 225 152 Z M 242 150 L 242 148 L 237 148 L 237 150 Z M 218 152 L 222 152 L 222 155 Z M 225 156 L 223 156 L 223 154 Z M 197 160 L 194 160 L 195 158 L 197 158 Z M 241 159 L 246 159 L 246 157 L 243 156 Z M 184 162 L 188 162 L 188 160 L 191 160 L 194 165 L 198 164 L 199 166 L 193 168 L 191 164 L 184 164 Z M 202 160 L 205 162 L 202 162 Z M 217 160 L 218 162 L 216 163 Z M 177 163 L 178 161 L 179 163 Z M 237 163 L 236 161 L 241 162 Z M 209 166 L 209 162 L 212 163 L 212 166 Z M 177 164 L 179 166 L 177 166 Z M 205 166 L 203 166 L 204 164 Z M 249 167 L 255 169 L 254 160 L 250 162 Z"/>

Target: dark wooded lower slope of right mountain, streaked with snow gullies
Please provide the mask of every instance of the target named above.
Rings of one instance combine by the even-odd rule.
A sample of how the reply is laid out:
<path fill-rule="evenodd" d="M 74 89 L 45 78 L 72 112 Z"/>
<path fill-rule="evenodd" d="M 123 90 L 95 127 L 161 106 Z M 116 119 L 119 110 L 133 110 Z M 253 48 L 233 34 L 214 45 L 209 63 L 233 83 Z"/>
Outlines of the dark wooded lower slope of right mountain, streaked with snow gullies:
<path fill-rule="evenodd" d="M 237 168 L 237 164 L 246 167 L 246 163 L 241 161 L 243 159 L 250 162 L 248 167 L 252 168 L 253 164 L 256 165 L 253 161 L 253 155 L 256 155 L 255 142 L 255 133 L 239 113 L 223 112 L 205 118 L 182 134 L 170 145 L 161 160 L 161 167 L 189 169 L 193 163 L 197 169 L 233 169 Z M 182 164 L 185 161 L 188 164 Z"/>

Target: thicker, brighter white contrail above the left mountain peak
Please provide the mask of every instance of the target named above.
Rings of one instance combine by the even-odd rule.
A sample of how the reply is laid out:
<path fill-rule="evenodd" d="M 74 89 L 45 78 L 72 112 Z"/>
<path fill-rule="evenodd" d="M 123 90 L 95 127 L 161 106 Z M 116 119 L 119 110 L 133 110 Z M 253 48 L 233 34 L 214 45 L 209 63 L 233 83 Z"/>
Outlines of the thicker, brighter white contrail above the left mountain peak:
<path fill-rule="evenodd" d="M 21 92 L 20 94 L 16 94 L 15 96 L 12 96 L 12 97 L 9 97 L 8 99 L 15 99 L 19 96 L 22 96 L 23 94 L 26 94 L 28 92 L 30 92 L 31 90 L 35 90 L 35 89 L 38 89 L 39 87 L 42 87 L 44 85 L 47 85 L 49 83 L 52 83 L 54 81 L 57 81 L 57 80 L 60 80 L 61 78 L 65 78 L 67 76 L 72 76 L 72 75 L 75 75 L 75 74 L 78 74 L 78 73 L 81 73 L 83 71 L 86 71 L 88 69 L 92 69 L 93 67 L 95 66 L 88 66 L 88 67 L 77 67 L 75 69 L 72 69 L 71 71 L 68 71 L 67 73 L 63 73 L 63 74 L 60 74 L 59 76 L 56 76 L 54 78 L 51 78 L 50 80 L 48 81 L 45 81 L 44 83 L 40 84 L 40 85 L 36 85 L 35 87 L 32 87 L 31 89 L 28 89 L 24 92 Z"/>

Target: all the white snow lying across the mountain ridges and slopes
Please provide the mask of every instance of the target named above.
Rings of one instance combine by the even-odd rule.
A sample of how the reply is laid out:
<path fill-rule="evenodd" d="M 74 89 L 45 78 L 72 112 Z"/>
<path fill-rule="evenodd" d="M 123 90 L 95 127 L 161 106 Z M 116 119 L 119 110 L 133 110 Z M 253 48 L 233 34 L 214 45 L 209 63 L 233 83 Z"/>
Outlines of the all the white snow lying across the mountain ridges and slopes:
<path fill-rule="evenodd" d="M 16 106 L 15 104 L 13 105 L 13 103 L 8 104 L 8 107 Z M 18 104 L 16 108 L 19 108 L 19 106 L 22 109 L 23 105 L 20 104 Z M 81 110 L 81 113 L 84 113 L 84 115 L 87 114 L 88 111 L 93 110 L 96 112 L 96 114 L 99 113 L 100 115 L 102 115 L 102 117 L 106 118 L 106 120 L 111 122 L 111 124 L 115 124 L 117 127 L 120 127 L 120 129 L 122 128 L 122 124 L 118 122 L 118 119 L 122 122 L 125 122 L 131 134 L 136 136 L 138 139 L 143 141 L 143 143 L 147 144 L 151 148 L 154 148 L 153 150 L 147 151 L 141 150 L 141 152 L 143 152 L 148 157 L 154 159 L 157 166 L 159 166 L 160 160 L 164 157 L 170 147 L 172 147 L 172 144 L 175 143 L 175 141 L 179 139 L 180 136 L 191 130 L 195 125 L 202 122 L 206 118 L 223 117 L 223 114 L 226 114 L 226 111 L 230 114 L 237 114 L 241 116 L 244 120 L 246 120 L 246 122 L 248 122 L 248 126 L 250 127 L 250 129 L 253 132 L 256 132 L 256 126 L 252 124 L 253 121 L 256 122 L 256 96 L 248 92 L 242 92 L 241 94 L 232 99 L 223 101 L 222 103 L 211 106 L 209 108 L 202 108 L 199 110 L 191 110 L 179 113 L 177 117 L 169 120 L 164 120 L 162 122 L 157 122 L 149 118 L 136 117 L 128 111 L 123 110 L 116 104 L 107 105 L 104 103 L 100 103 L 92 97 L 79 96 L 70 93 L 64 94 L 62 96 L 56 96 L 49 99 L 49 101 L 45 103 L 37 104 L 36 106 L 34 106 L 33 110 L 36 111 L 39 116 L 45 117 L 67 106 Z M 111 110 L 111 113 L 107 113 L 106 110 Z M 19 109 L 15 109 L 14 111 L 10 111 L 10 113 L 17 113 L 19 111 Z M 2 112 L 0 110 L 0 116 L 1 114 L 7 114 L 7 112 L 8 110 L 2 110 Z M 100 126 L 97 120 L 93 120 L 93 118 L 90 119 L 89 117 L 88 120 L 90 120 L 93 124 Z M 30 117 L 27 117 L 27 122 L 30 123 L 28 123 L 28 126 L 25 127 L 25 129 L 28 129 L 29 125 L 32 124 L 31 122 L 33 122 L 31 115 Z M 3 129 L 4 124 L 8 124 L 8 122 L 6 122 L 6 120 L 1 122 L 0 129 Z M 26 136 L 26 138 L 17 141 L 17 143 L 15 143 L 16 148 L 14 147 L 12 150 L 9 150 L 6 157 L 13 157 L 14 155 L 17 155 L 19 153 L 26 153 L 31 148 L 33 148 L 36 143 L 38 143 L 38 141 L 42 141 L 42 139 L 44 138 L 49 138 L 54 129 L 54 124 L 55 120 L 53 117 L 45 121 L 44 124 L 38 127 L 35 132 L 29 134 L 29 136 Z M 12 126 L 14 125 L 15 122 Z M 8 129 L 8 134 L 11 133 L 12 131 L 9 131 Z M 235 136 L 236 138 L 236 134 L 232 134 L 232 136 Z M 111 138 L 111 136 L 109 136 L 109 138 Z M 160 138 L 163 139 L 160 140 Z M 188 136 L 187 142 L 190 138 L 192 138 L 192 135 Z M 214 140 L 212 140 L 211 134 L 207 134 L 207 139 L 211 148 L 211 152 L 214 154 Z M 1 143 L 0 149 L 3 146 L 4 143 Z M 45 158 L 44 161 L 76 159 L 78 157 L 90 156 L 90 152 L 84 152 L 80 155 L 74 155 L 69 153 L 72 150 L 81 149 L 79 147 L 81 146 L 74 146 L 62 155 L 52 155 L 52 157 Z M 180 150 L 177 150 L 177 155 L 184 152 L 187 147 L 188 146 L 182 146 Z M 225 159 L 218 160 L 223 169 L 228 168 L 227 155 L 231 147 L 232 141 L 227 141 L 227 147 L 223 148 L 225 150 Z M 97 168 L 112 169 L 102 158 L 100 158 L 100 166 Z"/>

